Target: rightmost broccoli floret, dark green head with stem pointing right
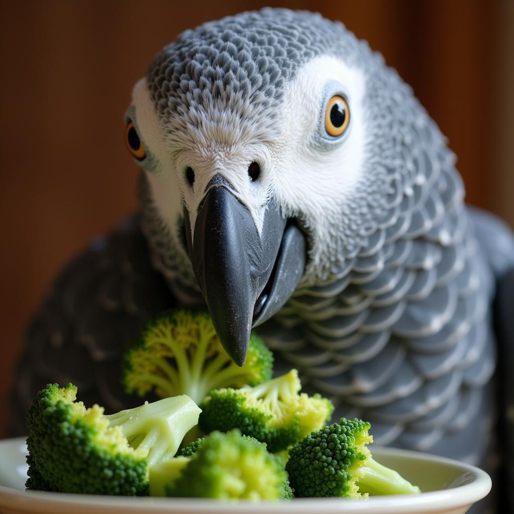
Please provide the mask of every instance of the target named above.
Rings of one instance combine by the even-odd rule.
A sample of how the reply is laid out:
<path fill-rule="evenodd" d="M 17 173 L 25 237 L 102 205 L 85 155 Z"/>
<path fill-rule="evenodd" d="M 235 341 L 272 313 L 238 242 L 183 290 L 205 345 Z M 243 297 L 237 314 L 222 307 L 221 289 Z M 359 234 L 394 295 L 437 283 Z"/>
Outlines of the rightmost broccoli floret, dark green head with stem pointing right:
<path fill-rule="evenodd" d="M 368 494 L 417 494 L 396 471 L 378 464 L 365 446 L 371 425 L 360 419 L 305 436 L 289 450 L 286 471 L 296 497 L 361 498 Z"/>

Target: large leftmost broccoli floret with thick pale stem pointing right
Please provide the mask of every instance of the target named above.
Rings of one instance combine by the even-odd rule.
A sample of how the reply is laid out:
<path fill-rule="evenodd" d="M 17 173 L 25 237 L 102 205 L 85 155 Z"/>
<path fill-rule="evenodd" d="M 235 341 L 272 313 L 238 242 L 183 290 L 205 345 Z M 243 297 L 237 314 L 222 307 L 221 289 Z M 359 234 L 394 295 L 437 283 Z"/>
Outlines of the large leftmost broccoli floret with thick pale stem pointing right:
<path fill-rule="evenodd" d="M 27 413 L 29 489 L 148 494 L 148 467 L 176 453 L 200 410 L 187 396 L 104 415 L 77 387 L 48 384 Z"/>

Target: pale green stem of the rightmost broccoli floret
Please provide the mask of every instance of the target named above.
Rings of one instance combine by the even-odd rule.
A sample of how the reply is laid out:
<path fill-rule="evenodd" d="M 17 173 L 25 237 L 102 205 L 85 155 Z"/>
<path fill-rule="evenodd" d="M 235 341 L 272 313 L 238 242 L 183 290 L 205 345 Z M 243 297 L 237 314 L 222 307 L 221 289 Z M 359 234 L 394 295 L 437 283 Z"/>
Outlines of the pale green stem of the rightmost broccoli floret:
<path fill-rule="evenodd" d="M 372 496 L 382 494 L 418 494 L 419 487 L 413 486 L 398 472 L 382 466 L 373 457 L 368 457 L 365 465 L 357 471 L 357 485 L 360 493 Z"/>

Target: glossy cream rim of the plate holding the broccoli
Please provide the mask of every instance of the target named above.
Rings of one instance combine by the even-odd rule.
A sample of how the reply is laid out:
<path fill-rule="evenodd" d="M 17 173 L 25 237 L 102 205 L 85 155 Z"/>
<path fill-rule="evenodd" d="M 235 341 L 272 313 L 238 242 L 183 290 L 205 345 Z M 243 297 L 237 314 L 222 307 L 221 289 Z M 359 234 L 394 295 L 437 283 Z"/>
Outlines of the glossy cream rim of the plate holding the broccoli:
<path fill-rule="evenodd" d="M 25 444 L 26 437 L 14 437 L 0 440 L 0 449 L 3 446 L 21 446 Z M 465 462 L 456 461 L 447 457 L 439 457 L 437 455 L 417 452 L 412 450 L 403 450 L 399 448 L 388 448 L 374 445 L 374 454 L 378 453 L 383 456 L 402 456 L 416 460 L 425 460 L 426 462 L 442 463 L 449 466 L 462 469 L 463 473 L 467 472 L 474 476 L 474 480 L 470 483 L 457 485 L 449 489 L 441 489 L 437 491 L 422 492 L 420 494 L 391 495 L 371 497 L 365 501 L 358 499 L 342 499 L 342 498 L 295 498 L 291 501 L 262 501 L 254 503 L 241 500 L 238 502 L 221 502 L 219 500 L 203 499 L 203 498 L 155 498 L 155 497 L 124 497 L 109 496 L 95 494 L 76 494 L 61 493 L 47 491 L 27 491 L 15 489 L 0 485 L 0 507 L 21 507 L 25 503 L 33 504 L 36 502 L 36 510 L 33 512 L 51 512 L 48 507 L 52 504 L 60 506 L 72 504 L 75 507 L 90 507 L 114 509 L 123 508 L 126 512 L 169 512 L 174 511 L 193 512 L 202 510 L 205 512 L 237 512 L 244 509 L 245 512 L 265 512 L 270 507 L 280 505 L 281 511 L 299 508 L 300 506 L 310 511 L 318 510 L 324 507 L 324 511 L 334 510 L 334 512 L 366 512 L 371 511 L 372 506 L 380 505 L 380 511 L 383 514 L 395 514 L 397 509 L 417 508 L 417 512 L 432 512 L 440 508 L 458 508 L 472 505 L 487 496 L 492 482 L 490 476 L 482 469 L 467 464 Z M 451 491 L 451 492 L 449 492 Z M 172 505 L 170 503 L 173 502 Z M 307 510 L 305 510 L 307 511 Z"/>

